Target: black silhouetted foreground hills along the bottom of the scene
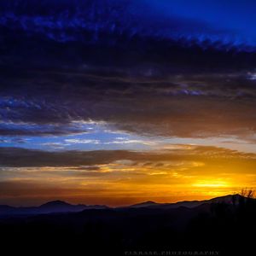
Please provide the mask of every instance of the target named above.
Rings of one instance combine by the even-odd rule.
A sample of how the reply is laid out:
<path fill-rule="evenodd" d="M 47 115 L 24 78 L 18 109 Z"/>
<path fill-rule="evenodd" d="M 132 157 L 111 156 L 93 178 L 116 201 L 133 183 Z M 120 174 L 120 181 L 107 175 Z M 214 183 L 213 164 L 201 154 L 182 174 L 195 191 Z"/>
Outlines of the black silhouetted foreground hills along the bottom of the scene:
<path fill-rule="evenodd" d="M 34 247 L 40 252 L 69 251 L 72 255 L 79 250 L 84 255 L 256 252 L 252 233 L 256 230 L 255 199 L 228 195 L 201 204 L 194 201 L 194 207 L 192 202 L 187 202 L 187 207 L 184 204 L 146 202 L 82 212 L 3 215 L 0 236 L 9 252 L 19 253 L 35 253 Z"/>

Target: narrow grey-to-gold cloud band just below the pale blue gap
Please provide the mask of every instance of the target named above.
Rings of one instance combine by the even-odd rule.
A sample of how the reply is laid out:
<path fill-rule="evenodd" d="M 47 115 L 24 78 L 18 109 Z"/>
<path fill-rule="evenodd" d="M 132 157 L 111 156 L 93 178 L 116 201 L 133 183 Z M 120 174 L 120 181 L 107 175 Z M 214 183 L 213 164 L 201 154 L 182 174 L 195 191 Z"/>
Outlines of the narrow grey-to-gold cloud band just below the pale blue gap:
<path fill-rule="evenodd" d="M 152 163 L 159 163 L 160 161 L 209 159 L 255 160 L 255 154 L 244 154 L 226 148 L 186 145 L 180 149 L 158 152 L 134 152 L 127 150 L 48 152 L 25 148 L 0 148 L 0 166 L 3 167 L 80 166 L 84 170 L 92 172 L 96 171 L 94 167 L 97 165 L 110 164 L 115 161 L 119 161 L 119 164 L 121 164 L 121 160 L 125 160 L 124 165 L 126 160 L 135 162 L 131 163 L 131 165 L 137 165 L 136 163 L 139 162 L 153 165 Z"/>

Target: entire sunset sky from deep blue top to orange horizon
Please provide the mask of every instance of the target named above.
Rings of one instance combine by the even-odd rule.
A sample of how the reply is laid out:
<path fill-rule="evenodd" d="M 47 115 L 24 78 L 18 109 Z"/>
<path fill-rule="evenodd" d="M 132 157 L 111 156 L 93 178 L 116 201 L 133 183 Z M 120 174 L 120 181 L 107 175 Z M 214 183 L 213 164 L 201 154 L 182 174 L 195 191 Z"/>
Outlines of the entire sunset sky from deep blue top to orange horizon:
<path fill-rule="evenodd" d="M 0 204 L 256 187 L 255 1 L 0 7 Z"/>

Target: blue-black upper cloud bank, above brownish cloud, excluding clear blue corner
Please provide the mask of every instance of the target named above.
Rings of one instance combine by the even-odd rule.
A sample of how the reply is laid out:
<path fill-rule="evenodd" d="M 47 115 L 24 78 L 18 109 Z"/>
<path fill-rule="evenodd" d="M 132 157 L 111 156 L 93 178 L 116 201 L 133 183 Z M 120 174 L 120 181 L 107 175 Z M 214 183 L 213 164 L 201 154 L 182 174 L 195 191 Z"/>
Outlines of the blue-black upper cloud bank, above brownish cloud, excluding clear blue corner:
<path fill-rule="evenodd" d="M 237 43 L 233 31 L 157 12 L 150 1 L 13 0 L 0 7 L 5 65 L 201 72 L 256 63 L 254 48 Z"/>

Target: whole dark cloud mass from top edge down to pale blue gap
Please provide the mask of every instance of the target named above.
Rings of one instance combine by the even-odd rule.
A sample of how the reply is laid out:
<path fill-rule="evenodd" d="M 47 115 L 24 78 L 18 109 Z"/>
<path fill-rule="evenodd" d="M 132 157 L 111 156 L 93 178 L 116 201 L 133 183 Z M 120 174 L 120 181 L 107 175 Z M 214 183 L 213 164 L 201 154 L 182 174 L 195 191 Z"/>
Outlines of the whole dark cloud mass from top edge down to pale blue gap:
<path fill-rule="evenodd" d="M 2 1 L 0 135 L 74 134 L 84 131 L 74 120 L 92 119 L 151 136 L 253 139 L 254 49 L 140 4 Z"/>

